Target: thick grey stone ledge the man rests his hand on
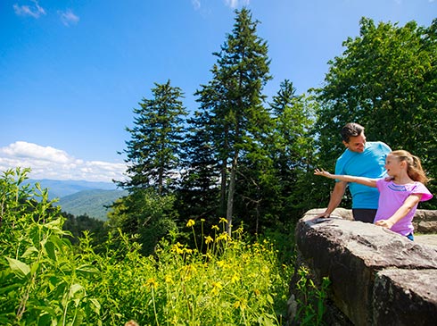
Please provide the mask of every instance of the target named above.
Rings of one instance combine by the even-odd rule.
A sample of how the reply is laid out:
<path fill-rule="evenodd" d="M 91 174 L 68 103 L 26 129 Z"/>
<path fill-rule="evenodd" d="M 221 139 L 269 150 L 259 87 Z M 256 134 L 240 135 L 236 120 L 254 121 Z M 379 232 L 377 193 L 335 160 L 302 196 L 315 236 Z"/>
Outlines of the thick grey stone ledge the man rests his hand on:
<path fill-rule="evenodd" d="M 428 278 L 429 281 L 437 279 L 437 248 L 422 246 L 370 223 L 343 219 L 345 213 L 347 218 L 351 217 L 347 210 L 335 210 L 333 218 L 315 219 L 323 211 L 310 210 L 301 218 L 296 226 L 296 243 L 301 258 L 316 278 L 320 281 L 324 276 L 329 277 L 332 290 L 330 299 L 350 322 L 355 325 L 411 324 L 401 321 L 386 323 L 385 320 L 385 323 L 378 322 L 387 315 L 383 312 L 394 309 L 394 302 L 388 298 L 384 299 L 382 305 L 376 305 L 375 300 L 381 300 L 383 291 L 375 290 L 382 284 L 392 290 L 400 288 L 400 292 L 409 291 L 420 297 L 418 301 L 410 300 L 410 305 L 404 306 L 404 310 L 426 313 L 437 308 L 437 291 L 431 297 L 426 297 L 423 296 L 424 287 L 416 288 L 413 292 L 410 289 L 410 283 L 419 280 L 417 275 L 421 272 L 425 277 L 435 275 Z M 404 277 L 400 285 L 392 280 L 391 276 L 394 275 L 388 272 L 394 269 L 403 271 L 397 274 L 397 278 L 400 275 Z M 384 282 L 375 284 L 375 279 Z M 387 305 L 384 305 L 385 302 Z M 389 305 L 391 302 L 393 306 Z M 422 304 L 418 305 L 417 302 Z M 424 303 L 433 308 L 425 312 Z M 424 316 L 416 317 L 420 320 Z M 435 320 L 435 314 L 430 318 Z"/>

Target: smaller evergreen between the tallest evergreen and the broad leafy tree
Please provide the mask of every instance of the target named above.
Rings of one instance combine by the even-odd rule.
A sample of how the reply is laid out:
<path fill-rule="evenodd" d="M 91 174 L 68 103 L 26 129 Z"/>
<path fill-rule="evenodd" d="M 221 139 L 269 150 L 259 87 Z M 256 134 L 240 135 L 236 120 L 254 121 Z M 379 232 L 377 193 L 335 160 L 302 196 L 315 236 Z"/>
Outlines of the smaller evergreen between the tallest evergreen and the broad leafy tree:
<path fill-rule="evenodd" d="M 311 187 L 307 183 L 314 155 L 314 139 L 310 134 L 314 113 L 307 98 L 297 96 L 295 91 L 293 82 L 285 79 L 270 104 L 275 130 L 269 154 L 275 163 L 278 188 L 271 210 L 279 214 L 281 222 L 293 213 L 301 216 L 312 205 Z"/>

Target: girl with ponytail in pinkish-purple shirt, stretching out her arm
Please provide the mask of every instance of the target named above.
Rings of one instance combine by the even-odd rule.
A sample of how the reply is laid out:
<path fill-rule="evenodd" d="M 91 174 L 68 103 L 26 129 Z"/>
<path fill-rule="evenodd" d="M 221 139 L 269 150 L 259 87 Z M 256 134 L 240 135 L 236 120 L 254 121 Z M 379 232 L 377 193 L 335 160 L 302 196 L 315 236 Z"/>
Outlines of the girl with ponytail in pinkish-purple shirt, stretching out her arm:
<path fill-rule="evenodd" d="M 380 193 L 375 225 L 388 228 L 402 236 L 414 240 L 413 217 L 419 202 L 433 197 L 425 184 L 429 179 L 422 169 L 417 156 L 407 151 L 393 151 L 385 159 L 385 169 L 389 178 L 369 179 L 350 175 L 336 175 L 316 169 L 315 175 L 346 182 L 356 182 L 378 188 Z"/>

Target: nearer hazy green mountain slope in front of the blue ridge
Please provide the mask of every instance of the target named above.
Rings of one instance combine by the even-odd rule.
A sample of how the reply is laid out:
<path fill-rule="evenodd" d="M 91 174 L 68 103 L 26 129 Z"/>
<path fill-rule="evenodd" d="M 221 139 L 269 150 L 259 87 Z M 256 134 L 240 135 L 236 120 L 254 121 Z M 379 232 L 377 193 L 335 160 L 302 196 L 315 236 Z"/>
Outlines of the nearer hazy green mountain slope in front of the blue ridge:
<path fill-rule="evenodd" d="M 63 196 L 55 205 L 61 206 L 63 212 L 75 216 L 87 214 L 98 220 L 106 221 L 108 209 L 121 196 L 128 195 L 126 190 L 82 190 L 69 196 Z"/>

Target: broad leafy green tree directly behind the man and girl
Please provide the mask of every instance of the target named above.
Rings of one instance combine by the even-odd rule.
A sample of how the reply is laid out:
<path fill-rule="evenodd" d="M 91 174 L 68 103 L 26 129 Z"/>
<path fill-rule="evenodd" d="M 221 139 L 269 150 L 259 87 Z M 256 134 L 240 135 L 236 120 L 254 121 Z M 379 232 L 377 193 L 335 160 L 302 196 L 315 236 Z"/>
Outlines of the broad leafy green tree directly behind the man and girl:
<path fill-rule="evenodd" d="M 316 90 L 320 160 L 332 170 L 343 149 L 339 132 L 355 121 L 366 127 L 367 140 L 419 156 L 435 179 L 437 20 L 429 28 L 415 21 L 375 26 L 366 18 L 360 25 L 360 36 L 343 43 L 346 49 L 330 62 L 324 88 Z"/>

